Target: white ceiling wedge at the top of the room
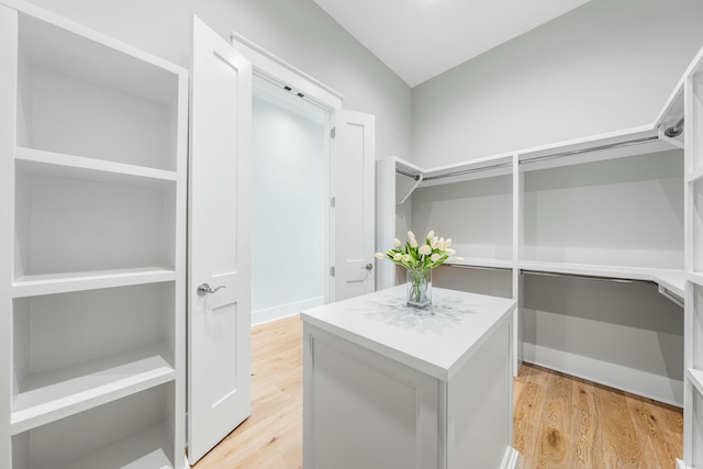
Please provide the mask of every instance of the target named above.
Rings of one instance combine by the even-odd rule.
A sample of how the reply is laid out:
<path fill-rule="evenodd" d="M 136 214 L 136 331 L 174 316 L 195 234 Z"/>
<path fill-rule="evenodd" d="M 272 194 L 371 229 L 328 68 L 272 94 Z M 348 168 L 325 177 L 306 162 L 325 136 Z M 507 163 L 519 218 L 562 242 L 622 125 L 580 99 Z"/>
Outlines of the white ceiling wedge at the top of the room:
<path fill-rule="evenodd" d="M 414 87 L 590 0 L 313 0 Z"/>

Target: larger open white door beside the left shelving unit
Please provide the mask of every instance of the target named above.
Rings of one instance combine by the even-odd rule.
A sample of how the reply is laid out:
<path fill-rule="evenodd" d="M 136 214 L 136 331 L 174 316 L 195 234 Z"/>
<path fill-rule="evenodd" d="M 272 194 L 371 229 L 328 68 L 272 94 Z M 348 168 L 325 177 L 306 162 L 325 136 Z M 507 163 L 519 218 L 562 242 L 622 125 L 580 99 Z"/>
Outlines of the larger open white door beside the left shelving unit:
<path fill-rule="evenodd" d="M 190 80 L 188 459 L 192 465 L 250 412 L 252 66 L 194 18 Z M 201 289 L 199 294 L 205 283 L 213 292 Z"/>

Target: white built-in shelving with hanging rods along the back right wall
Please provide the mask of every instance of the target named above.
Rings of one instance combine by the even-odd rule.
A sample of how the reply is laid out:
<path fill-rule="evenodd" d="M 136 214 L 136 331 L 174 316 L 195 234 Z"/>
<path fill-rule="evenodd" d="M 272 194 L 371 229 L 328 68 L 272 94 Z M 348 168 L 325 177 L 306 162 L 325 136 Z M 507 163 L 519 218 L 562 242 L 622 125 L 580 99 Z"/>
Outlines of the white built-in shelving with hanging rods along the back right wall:
<path fill-rule="evenodd" d="M 464 260 L 433 281 L 518 301 L 515 371 L 525 360 L 683 405 L 684 141 L 666 135 L 682 100 L 621 132 L 429 169 L 380 160 L 377 250 L 408 230 L 451 237 Z M 403 281 L 390 264 L 379 288 Z"/>

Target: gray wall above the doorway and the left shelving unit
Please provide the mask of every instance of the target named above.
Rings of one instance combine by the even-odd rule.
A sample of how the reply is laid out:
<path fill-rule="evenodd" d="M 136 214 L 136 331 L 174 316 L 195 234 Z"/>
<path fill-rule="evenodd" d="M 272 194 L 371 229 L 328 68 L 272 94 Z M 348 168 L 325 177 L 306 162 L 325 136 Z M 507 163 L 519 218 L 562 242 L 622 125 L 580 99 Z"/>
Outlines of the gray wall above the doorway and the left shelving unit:
<path fill-rule="evenodd" d="M 412 91 L 311 0 L 31 0 L 186 68 L 190 19 L 236 31 L 376 114 L 377 157 L 411 155 Z"/>

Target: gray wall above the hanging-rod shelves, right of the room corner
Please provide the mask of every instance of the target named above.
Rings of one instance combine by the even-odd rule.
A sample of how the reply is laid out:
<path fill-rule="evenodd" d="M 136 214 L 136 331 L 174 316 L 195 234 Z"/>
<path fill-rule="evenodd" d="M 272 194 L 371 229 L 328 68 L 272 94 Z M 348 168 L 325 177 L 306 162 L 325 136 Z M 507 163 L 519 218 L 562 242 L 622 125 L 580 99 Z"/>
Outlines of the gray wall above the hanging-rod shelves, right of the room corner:
<path fill-rule="evenodd" d="M 432 167 L 651 124 L 703 45 L 699 0 L 592 0 L 413 89 Z"/>

